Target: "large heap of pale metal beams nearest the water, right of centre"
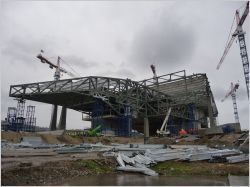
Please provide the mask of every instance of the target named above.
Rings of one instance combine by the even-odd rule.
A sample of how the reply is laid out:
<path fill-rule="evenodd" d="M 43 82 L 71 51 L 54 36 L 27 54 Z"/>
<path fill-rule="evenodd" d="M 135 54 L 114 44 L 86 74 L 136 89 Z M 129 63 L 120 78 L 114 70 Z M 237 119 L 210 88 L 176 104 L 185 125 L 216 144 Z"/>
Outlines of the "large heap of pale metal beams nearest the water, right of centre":
<path fill-rule="evenodd" d="M 115 145 L 111 152 L 103 156 L 114 156 L 119 164 L 117 170 L 140 172 L 146 175 L 156 176 L 149 167 L 157 162 L 167 160 L 198 161 L 198 160 L 225 160 L 227 156 L 240 155 L 236 149 L 214 149 L 204 145 Z M 235 158 L 242 158 L 235 157 Z M 230 158 L 230 157 L 229 157 Z M 244 156 L 246 159 L 246 156 Z M 231 160 L 230 160 L 231 161 Z"/>

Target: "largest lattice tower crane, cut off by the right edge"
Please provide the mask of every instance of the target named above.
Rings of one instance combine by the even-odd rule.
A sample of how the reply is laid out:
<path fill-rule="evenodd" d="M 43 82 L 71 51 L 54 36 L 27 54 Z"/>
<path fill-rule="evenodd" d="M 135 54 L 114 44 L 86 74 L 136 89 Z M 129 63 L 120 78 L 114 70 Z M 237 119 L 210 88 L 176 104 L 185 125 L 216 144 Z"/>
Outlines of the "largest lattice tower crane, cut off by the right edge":
<path fill-rule="evenodd" d="M 217 65 L 216 69 L 218 70 L 220 68 L 220 66 L 223 63 L 230 47 L 233 44 L 234 39 L 236 38 L 236 36 L 238 36 L 239 46 L 240 46 L 240 55 L 241 55 L 241 59 L 242 59 L 245 82 L 246 82 L 246 86 L 247 86 L 247 95 L 248 95 L 248 99 L 249 99 L 249 61 L 248 61 L 247 48 L 246 48 L 246 42 L 245 42 L 245 36 L 244 36 L 245 32 L 243 32 L 243 29 L 242 29 L 242 25 L 243 25 L 247 15 L 248 15 L 248 13 L 249 13 L 249 1 L 247 1 L 245 10 L 244 10 L 241 17 L 240 17 L 239 10 L 236 10 L 235 18 L 236 18 L 236 22 L 237 22 L 237 27 L 236 27 L 234 33 L 232 34 L 230 41 L 227 43 L 226 48 L 224 50 L 224 53 L 220 59 L 219 64 Z"/>

